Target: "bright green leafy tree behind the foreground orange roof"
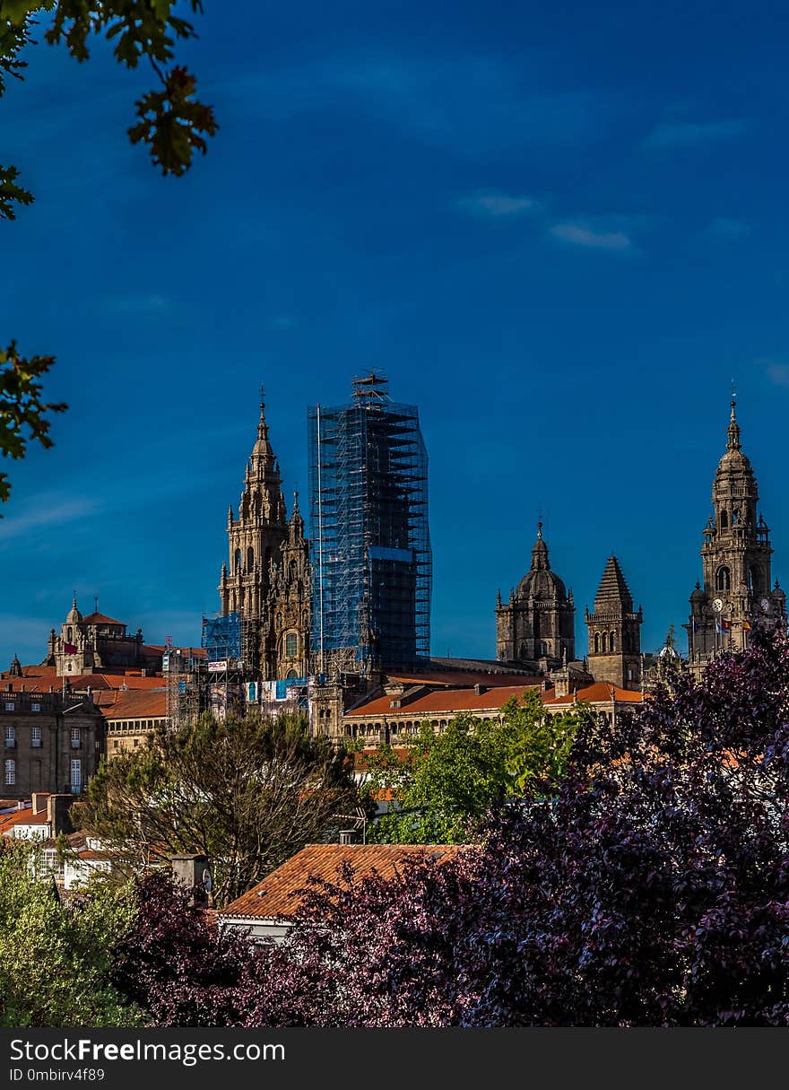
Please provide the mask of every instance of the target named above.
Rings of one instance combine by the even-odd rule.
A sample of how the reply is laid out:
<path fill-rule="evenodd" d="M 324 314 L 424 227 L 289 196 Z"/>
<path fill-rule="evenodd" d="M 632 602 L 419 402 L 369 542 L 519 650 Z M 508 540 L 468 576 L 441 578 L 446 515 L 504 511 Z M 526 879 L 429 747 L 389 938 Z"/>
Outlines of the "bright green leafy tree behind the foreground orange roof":
<path fill-rule="evenodd" d="M 388 809 L 369 839 L 458 844 L 476 838 L 491 807 L 515 795 L 550 795 L 561 779 L 583 705 L 551 716 L 527 691 L 501 722 L 459 715 L 444 734 L 425 724 L 405 754 L 379 746 L 367 762 L 365 794 Z"/>

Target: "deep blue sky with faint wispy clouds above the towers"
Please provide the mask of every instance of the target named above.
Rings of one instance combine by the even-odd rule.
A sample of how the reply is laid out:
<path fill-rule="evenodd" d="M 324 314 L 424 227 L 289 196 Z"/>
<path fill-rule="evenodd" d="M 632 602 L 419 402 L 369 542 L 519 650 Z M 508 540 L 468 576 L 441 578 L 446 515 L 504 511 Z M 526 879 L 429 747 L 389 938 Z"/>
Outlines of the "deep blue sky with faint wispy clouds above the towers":
<path fill-rule="evenodd" d="M 2 161 L 0 330 L 54 353 L 57 446 L 10 462 L 0 665 L 72 590 L 196 642 L 267 390 L 288 491 L 306 408 L 385 371 L 430 459 L 433 651 L 495 654 L 542 509 L 576 637 L 609 553 L 643 646 L 687 619 L 737 380 L 789 581 L 789 15 L 778 3 L 207 0 L 182 50 L 221 129 L 182 179 L 125 130 L 151 86 L 29 50 Z M 304 505 L 306 506 L 306 505 Z"/>

